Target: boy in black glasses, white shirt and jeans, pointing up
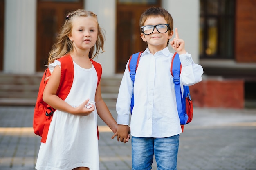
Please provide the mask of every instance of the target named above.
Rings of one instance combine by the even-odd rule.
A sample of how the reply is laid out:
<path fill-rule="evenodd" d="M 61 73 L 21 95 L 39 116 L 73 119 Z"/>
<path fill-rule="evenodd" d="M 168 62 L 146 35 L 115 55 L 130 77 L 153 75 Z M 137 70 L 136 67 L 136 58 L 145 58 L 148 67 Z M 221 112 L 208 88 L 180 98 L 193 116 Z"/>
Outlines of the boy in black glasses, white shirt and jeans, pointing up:
<path fill-rule="evenodd" d="M 132 170 L 150 170 L 153 155 L 158 170 L 176 170 L 179 134 L 182 129 L 170 72 L 173 54 L 168 50 L 169 40 L 173 37 L 173 19 L 165 9 L 151 7 L 141 15 L 140 27 L 141 38 L 148 44 L 148 48 L 141 54 L 134 85 L 128 63 L 126 65 L 116 105 L 118 131 L 125 133 L 124 128 L 129 124 L 130 102 L 134 92 L 130 121 Z M 200 82 L 203 69 L 186 52 L 177 28 L 170 44 L 180 55 L 181 85 Z M 118 141 L 119 139 L 125 142 L 117 136 Z"/>

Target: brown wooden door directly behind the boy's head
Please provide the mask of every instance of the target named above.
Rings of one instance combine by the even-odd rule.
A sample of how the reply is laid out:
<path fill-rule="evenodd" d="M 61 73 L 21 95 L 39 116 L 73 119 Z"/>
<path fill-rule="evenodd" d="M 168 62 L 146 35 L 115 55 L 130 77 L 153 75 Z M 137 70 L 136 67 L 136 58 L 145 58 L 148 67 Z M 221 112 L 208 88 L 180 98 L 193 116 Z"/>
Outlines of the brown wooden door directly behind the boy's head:
<path fill-rule="evenodd" d="M 117 1 L 116 73 L 124 72 L 126 63 L 132 54 L 147 48 L 147 44 L 140 37 L 139 19 L 149 7 L 160 6 L 160 0 L 155 0 L 154 4 L 121 3 L 124 1 Z"/>

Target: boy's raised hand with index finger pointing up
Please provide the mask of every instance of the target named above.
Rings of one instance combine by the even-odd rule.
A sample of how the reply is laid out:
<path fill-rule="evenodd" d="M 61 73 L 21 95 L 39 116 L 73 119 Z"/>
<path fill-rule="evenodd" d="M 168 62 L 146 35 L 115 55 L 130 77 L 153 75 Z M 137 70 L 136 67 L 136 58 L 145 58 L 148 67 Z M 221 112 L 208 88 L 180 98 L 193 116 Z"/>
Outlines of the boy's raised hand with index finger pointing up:
<path fill-rule="evenodd" d="M 178 54 L 186 54 L 185 42 L 179 38 L 178 28 L 175 28 L 175 38 L 173 38 L 170 44 Z"/>

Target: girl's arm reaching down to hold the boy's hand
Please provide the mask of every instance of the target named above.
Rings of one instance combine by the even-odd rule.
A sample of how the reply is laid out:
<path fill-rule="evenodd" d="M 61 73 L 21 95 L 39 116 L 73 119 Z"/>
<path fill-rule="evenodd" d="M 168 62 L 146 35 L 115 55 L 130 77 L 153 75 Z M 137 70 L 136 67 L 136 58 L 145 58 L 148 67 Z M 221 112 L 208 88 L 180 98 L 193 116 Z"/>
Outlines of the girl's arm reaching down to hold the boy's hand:
<path fill-rule="evenodd" d="M 103 101 L 103 99 L 101 97 L 101 85 L 100 84 L 101 83 L 99 82 L 99 85 L 96 89 L 96 94 L 95 94 L 95 105 L 97 108 L 97 113 L 98 113 L 99 117 L 108 125 L 108 127 L 110 127 L 112 132 L 115 133 L 115 135 L 118 135 L 117 134 L 117 122 L 113 118 L 106 103 Z M 125 132 L 122 133 L 121 142 L 126 143 L 130 139 L 130 135 L 129 135 L 130 128 L 128 127 L 124 130 L 125 130 Z"/>

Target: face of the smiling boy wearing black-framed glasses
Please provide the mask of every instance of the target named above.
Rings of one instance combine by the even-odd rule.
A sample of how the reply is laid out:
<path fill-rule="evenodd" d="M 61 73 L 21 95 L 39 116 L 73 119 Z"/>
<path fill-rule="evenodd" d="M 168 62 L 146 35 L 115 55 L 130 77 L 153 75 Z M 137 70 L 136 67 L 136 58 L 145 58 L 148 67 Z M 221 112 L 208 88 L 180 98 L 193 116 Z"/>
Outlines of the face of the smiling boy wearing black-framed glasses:
<path fill-rule="evenodd" d="M 167 24 L 166 20 L 164 17 L 157 16 L 157 17 L 148 17 L 146 21 L 144 22 L 144 26 L 146 25 L 158 25 L 158 24 Z M 159 33 L 154 27 L 153 33 L 149 35 L 145 35 L 144 33 L 141 33 L 141 39 L 144 42 L 147 42 L 149 48 L 157 48 L 159 50 L 162 50 L 166 48 L 168 39 L 171 39 L 173 36 L 173 31 L 168 31 L 166 33 Z"/>

